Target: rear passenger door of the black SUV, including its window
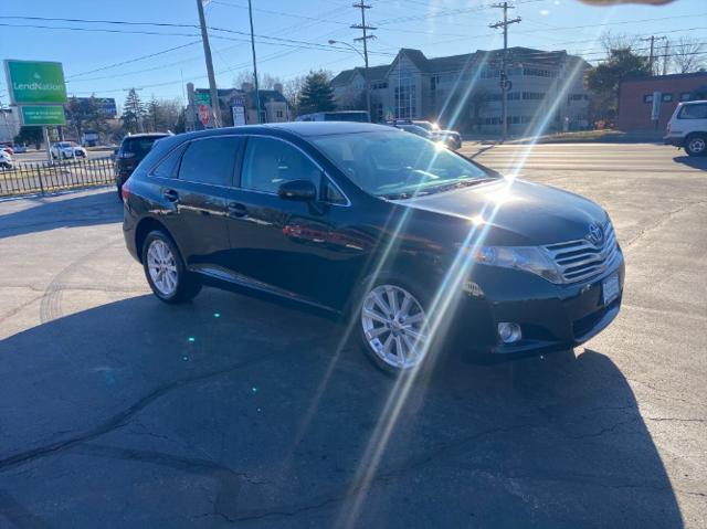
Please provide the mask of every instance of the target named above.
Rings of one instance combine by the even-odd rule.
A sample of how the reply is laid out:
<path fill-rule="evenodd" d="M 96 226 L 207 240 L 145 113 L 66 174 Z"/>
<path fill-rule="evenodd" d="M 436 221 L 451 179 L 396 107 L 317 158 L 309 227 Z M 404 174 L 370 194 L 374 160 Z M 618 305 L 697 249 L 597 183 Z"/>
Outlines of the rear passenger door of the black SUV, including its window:
<path fill-rule="evenodd" d="M 221 275 L 228 268 L 224 261 L 229 250 L 226 199 L 240 146 L 238 136 L 190 141 L 173 184 L 168 182 L 161 189 L 165 200 L 176 209 L 171 232 L 187 267 L 192 271 Z"/>

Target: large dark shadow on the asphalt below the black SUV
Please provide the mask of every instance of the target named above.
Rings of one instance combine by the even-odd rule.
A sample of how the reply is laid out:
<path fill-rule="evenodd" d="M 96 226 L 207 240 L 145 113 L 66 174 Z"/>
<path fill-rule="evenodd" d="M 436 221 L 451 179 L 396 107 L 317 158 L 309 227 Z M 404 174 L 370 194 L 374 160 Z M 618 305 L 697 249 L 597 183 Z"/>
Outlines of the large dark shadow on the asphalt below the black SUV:
<path fill-rule="evenodd" d="M 479 367 L 447 350 L 405 384 L 344 330 L 205 288 L 187 305 L 138 296 L 7 338 L 0 520 L 683 526 L 605 355 Z"/>

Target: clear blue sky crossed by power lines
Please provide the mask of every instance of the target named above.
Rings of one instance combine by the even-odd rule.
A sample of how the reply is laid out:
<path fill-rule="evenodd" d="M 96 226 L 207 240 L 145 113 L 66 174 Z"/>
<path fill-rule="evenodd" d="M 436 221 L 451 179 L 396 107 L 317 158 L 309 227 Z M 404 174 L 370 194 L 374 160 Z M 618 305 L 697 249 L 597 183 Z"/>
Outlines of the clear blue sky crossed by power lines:
<path fill-rule="evenodd" d="M 253 0 L 258 73 L 284 81 L 325 68 L 362 65 L 347 45 L 360 35 L 352 0 Z M 370 65 L 389 63 L 400 47 L 444 56 L 500 47 L 502 19 L 490 0 L 368 0 Z M 516 0 L 508 45 L 567 50 L 590 62 L 604 56 L 599 38 L 614 34 L 698 39 L 707 44 L 707 0 L 667 6 L 588 6 L 580 0 Z M 252 71 L 247 0 L 204 1 L 217 85 L 231 87 Z M 82 19 L 28 20 L 18 17 Z M 94 23 L 87 21 L 101 20 Z M 107 23 L 107 21 L 118 23 Z M 124 22 L 130 22 L 126 24 Z M 184 97 L 184 83 L 208 86 L 196 0 L 2 0 L 0 59 L 63 63 L 70 95 L 115 97 L 130 87 L 144 99 Z M 159 25 L 162 24 L 162 25 Z M 171 25 L 163 25 L 171 24 Z M 59 28 L 72 29 L 59 29 Z M 329 40 L 346 44 L 329 45 Z M 657 41 L 664 45 L 665 41 Z M 643 43 L 647 49 L 647 43 Z M 646 52 L 647 54 L 647 52 Z M 182 82 L 183 81 L 183 82 Z M 8 104 L 4 76 L 0 104 Z"/>

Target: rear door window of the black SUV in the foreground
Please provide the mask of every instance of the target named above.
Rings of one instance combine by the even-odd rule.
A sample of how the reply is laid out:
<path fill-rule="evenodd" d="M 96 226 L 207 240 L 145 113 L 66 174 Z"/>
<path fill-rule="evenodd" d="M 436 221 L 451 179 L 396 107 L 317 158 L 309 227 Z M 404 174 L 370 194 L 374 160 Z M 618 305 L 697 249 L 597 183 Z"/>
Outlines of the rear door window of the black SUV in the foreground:
<path fill-rule="evenodd" d="M 232 186 L 240 138 L 207 138 L 187 147 L 179 166 L 179 178 L 190 182 Z"/>

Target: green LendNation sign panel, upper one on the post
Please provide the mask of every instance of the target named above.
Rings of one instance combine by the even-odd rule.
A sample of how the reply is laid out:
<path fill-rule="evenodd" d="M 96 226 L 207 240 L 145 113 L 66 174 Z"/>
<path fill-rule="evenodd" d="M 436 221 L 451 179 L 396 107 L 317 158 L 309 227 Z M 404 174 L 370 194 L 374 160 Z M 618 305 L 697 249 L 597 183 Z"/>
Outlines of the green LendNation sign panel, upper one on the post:
<path fill-rule="evenodd" d="M 6 60 L 10 103 L 64 104 L 66 85 L 62 63 Z"/>

